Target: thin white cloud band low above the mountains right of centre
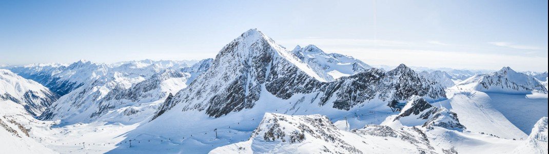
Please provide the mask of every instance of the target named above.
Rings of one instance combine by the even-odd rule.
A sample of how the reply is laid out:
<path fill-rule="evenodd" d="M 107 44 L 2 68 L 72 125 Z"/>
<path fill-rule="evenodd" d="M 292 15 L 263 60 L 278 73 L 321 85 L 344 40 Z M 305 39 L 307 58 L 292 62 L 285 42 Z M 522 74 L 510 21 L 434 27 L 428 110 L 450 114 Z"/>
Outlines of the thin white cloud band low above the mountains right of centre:
<path fill-rule="evenodd" d="M 540 57 L 538 54 L 524 54 L 536 52 L 535 50 L 528 50 L 521 52 L 521 54 L 503 54 L 501 52 L 491 52 L 493 48 L 456 45 L 435 40 L 409 42 L 369 39 L 301 38 L 282 40 L 278 43 L 290 47 L 312 44 L 320 47 L 325 52 L 345 54 L 372 65 L 398 65 L 405 63 L 423 67 L 495 70 L 504 66 L 510 66 L 517 70 L 547 70 L 547 63 L 537 63 L 547 61 L 547 57 Z M 498 45 L 512 44 L 498 43 Z M 524 46 L 513 47 L 527 48 Z M 470 50 L 470 48 L 475 48 L 476 50 Z M 529 47 L 529 49 L 534 48 Z M 490 61 L 486 57 L 490 57 Z"/>

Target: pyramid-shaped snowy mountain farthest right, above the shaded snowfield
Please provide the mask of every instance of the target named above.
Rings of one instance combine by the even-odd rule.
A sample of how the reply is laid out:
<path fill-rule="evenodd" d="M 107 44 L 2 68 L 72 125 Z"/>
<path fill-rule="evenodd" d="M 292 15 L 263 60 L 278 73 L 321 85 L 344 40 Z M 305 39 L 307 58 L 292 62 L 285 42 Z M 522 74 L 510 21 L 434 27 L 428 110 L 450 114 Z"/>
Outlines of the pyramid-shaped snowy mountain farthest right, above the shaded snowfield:
<path fill-rule="evenodd" d="M 503 67 L 490 74 L 475 75 L 456 85 L 458 89 L 471 89 L 483 92 L 501 92 L 506 94 L 531 94 L 533 90 L 547 93 L 539 80 L 526 74 Z"/>

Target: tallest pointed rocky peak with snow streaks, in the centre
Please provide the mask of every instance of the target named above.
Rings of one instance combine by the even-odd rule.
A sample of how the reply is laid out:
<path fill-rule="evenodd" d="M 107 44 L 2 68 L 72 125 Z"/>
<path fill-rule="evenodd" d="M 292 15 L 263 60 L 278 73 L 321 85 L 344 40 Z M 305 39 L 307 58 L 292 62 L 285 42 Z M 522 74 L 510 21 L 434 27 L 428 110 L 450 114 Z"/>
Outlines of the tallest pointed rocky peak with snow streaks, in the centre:
<path fill-rule="evenodd" d="M 302 69 L 309 70 L 309 74 Z M 255 29 L 249 30 L 223 47 L 210 69 L 188 89 L 178 92 L 160 111 L 181 104 L 183 111 L 197 109 L 220 117 L 252 108 L 262 89 L 280 98 L 309 93 L 323 84 L 312 76 L 320 79 L 271 38 Z"/>

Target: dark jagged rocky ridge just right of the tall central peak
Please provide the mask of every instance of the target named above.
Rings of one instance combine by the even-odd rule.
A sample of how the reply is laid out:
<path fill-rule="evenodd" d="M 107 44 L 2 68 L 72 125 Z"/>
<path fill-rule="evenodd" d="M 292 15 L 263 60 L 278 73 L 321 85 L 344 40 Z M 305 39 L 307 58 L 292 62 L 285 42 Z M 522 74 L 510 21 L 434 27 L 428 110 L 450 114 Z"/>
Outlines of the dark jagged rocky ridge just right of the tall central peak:
<path fill-rule="evenodd" d="M 343 77 L 328 83 L 321 91 L 324 92 L 321 105 L 328 103 L 334 97 L 334 108 L 338 109 L 350 109 L 372 100 L 406 101 L 414 95 L 430 100 L 446 97 L 442 86 L 422 78 L 404 64 L 389 72 L 368 69 L 365 72 Z"/>

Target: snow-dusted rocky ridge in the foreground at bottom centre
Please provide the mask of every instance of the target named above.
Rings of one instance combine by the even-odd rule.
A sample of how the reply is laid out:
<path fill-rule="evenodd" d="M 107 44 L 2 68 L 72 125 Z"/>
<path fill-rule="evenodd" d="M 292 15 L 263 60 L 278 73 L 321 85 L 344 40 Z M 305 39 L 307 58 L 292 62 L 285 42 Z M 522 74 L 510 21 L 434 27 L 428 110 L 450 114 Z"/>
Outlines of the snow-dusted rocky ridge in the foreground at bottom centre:
<path fill-rule="evenodd" d="M 505 153 L 519 142 L 440 127 L 369 124 L 344 131 L 318 114 L 265 113 L 248 140 L 209 153 Z"/>

